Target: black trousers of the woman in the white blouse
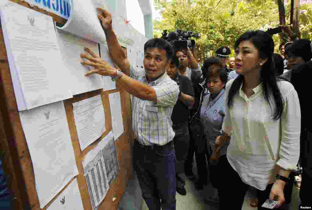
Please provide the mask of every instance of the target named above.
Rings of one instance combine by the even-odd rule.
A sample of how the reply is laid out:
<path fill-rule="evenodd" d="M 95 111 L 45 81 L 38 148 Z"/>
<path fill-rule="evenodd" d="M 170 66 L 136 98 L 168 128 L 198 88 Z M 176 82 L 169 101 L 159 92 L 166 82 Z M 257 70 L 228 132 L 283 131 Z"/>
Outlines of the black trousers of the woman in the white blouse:
<path fill-rule="evenodd" d="M 220 157 L 219 166 L 219 168 L 223 168 L 223 170 L 220 171 L 220 180 L 222 180 L 222 182 L 219 184 L 218 188 L 220 210 L 241 209 L 249 185 L 241 180 L 241 177 L 232 168 L 225 155 Z M 257 189 L 257 197 L 259 199 L 258 210 L 267 210 L 267 208 L 261 206 L 269 199 L 272 185 L 273 184 L 267 185 L 265 190 Z M 283 206 L 280 207 L 280 209 L 281 208 L 283 208 Z"/>

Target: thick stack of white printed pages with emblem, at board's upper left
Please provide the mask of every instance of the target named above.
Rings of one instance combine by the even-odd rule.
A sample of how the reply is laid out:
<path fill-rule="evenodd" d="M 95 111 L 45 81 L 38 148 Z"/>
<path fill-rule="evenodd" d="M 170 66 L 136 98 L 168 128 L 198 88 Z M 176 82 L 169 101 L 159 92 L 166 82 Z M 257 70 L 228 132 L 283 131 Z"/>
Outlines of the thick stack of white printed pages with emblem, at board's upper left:
<path fill-rule="evenodd" d="M 1 23 L 18 110 L 71 98 L 52 17 L 8 2 Z"/>

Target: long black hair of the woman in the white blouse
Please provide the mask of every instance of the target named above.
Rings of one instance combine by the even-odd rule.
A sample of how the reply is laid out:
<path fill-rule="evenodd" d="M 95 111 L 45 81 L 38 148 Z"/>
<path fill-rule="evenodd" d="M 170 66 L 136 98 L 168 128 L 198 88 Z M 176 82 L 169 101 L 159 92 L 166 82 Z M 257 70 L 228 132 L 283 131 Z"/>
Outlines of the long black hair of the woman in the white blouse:
<path fill-rule="evenodd" d="M 247 31 L 242 34 L 235 42 L 235 48 L 242 41 L 250 40 L 255 48 L 259 51 L 259 57 L 262 59 L 267 58 L 267 61 L 262 66 L 260 71 L 260 82 L 263 84 L 263 95 L 266 102 L 269 104 L 271 108 L 271 116 L 273 116 L 274 120 L 278 120 L 283 112 L 284 101 L 282 95 L 280 93 L 280 89 L 277 86 L 275 71 L 274 71 L 274 63 L 272 61 L 273 52 L 274 52 L 274 41 L 272 37 L 264 31 L 256 30 L 256 31 Z M 229 90 L 227 106 L 233 106 L 233 97 L 238 92 L 241 87 L 241 84 L 244 81 L 244 75 L 239 75 L 233 81 L 233 84 Z M 273 98 L 271 97 L 273 95 Z M 273 99 L 273 100 L 272 100 Z M 273 113 L 272 102 L 275 102 L 275 110 Z"/>

